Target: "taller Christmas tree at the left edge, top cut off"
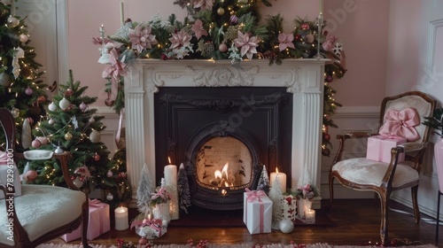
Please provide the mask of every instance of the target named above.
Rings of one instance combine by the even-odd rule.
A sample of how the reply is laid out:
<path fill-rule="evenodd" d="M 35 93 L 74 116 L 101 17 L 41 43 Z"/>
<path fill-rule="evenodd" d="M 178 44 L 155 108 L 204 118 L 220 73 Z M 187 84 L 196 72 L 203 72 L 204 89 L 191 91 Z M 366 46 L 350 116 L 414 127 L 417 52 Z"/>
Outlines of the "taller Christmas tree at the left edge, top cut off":
<path fill-rule="evenodd" d="M 20 139 L 22 124 L 28 119 L 34 126 L 48 104 L 43 72 L 35 61 L 35 49 L 29 45 L 25 19 L 14 15 L 12 1 L 0 2 L 0 107 L 10 109 Z M 23 147 L 17 147 L 19 151 Z"/>

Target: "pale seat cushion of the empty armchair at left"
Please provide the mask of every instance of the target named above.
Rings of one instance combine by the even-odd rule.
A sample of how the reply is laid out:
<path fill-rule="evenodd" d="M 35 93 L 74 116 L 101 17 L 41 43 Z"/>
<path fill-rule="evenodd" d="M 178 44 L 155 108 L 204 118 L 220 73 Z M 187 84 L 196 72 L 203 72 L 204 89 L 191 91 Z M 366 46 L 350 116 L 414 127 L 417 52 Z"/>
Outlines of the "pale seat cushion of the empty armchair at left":
<path fill-rule="evenodd" d="M 21 190 L 22 196 L 14 198 L 15 211 L 31 241 L 76 220 L 87 200 L 82 191 L 51 185 L 25 184 Z M 5 209 L 5 201 L 0 200 L 0 211 Z M 6 214 L 0 214 L 0 244 L 13 245 L 7 239 L 7 224 Z"/>

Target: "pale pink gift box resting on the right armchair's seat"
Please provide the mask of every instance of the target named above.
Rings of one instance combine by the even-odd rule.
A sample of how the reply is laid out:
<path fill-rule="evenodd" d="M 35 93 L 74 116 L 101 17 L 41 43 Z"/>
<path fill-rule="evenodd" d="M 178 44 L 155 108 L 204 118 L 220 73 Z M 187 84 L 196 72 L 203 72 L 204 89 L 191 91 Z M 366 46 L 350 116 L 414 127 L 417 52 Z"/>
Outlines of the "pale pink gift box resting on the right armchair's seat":
<path fill-rule="evenodd" d="M 366 159 L 379 162 L 391 162 L 391 150 L 401 143 L 406 143 L 406 138 L 399 136 L 370 136 L 368 138 L 368 149 Z M 405 153 L 399 154 L 397 162 L 405 160 Z"/>

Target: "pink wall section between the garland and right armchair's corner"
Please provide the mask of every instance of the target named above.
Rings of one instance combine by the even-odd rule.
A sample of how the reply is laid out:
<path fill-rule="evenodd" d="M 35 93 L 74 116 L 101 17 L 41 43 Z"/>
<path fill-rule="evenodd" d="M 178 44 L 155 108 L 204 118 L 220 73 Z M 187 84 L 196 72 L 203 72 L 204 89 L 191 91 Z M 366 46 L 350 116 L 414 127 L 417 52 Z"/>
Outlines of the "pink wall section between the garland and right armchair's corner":
<path fill-rule="evenodd" d="M 332 82 L 344 106 L 378 106 L 385 97 L 389 1 L 325 1 L 325 19 L 346 50 L 345 77 Z"/>

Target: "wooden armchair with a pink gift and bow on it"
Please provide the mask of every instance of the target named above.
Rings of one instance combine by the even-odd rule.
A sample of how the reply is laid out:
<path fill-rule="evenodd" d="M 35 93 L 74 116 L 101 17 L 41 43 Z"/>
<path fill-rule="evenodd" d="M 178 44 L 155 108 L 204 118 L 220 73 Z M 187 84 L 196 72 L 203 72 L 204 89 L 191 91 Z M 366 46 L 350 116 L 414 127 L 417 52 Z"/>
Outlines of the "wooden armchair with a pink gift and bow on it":
<path fill-rule="evenodd" d="M 402 143 L 392 148 L 389 163 L 366 158 L 343 159 L 346 141 L 377 135 L 356 132 L 337 136 L 340 142 L 338 153 L 332 162 L 332 167 L 330 167 L 330 204 L 326 207 L 326 210 L 330 210 L 334 199 L 334 179 L 337 179 L 347 188 L 375 191 L 381 203 L 380 237 L 382 244 L 387 244 L 388 241 L 387 210 L 389 209 L 389 198 L 392 191 L 411 188 L 415 221 L 418 223 L 420 220 L 417 190 L 420 168 L 422 167 L 424 151 L 430 134 L 430 128 L 424 126 L 422 122 L 424 117 L 431 116 L 435 108 L 435 101 L 418 91 L 406 92 L 395 97 L 385 97 L 381 105 L 379 127 L 385 124 L 385 112 L 390 110 L 400 112 L 407 108 L 415 109 L 419 116 L 419 124 L 414 127 L 419 138 L 413 142 Z M 404 162 L 398 162 L 401 152 L 405 152 L 406 155 Z"/>

